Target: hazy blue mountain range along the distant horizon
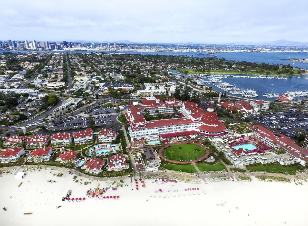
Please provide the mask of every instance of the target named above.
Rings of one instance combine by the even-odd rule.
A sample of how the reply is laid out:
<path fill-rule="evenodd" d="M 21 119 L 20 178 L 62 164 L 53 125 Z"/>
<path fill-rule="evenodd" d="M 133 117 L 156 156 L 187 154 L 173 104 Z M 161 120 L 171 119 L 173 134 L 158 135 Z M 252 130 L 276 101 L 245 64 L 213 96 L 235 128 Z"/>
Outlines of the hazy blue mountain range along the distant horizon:
<path fill-rule="evenodd" d="M 134 43 L 149 43 L 149 42 L 132 42 L 129 40 L 114 40 L 114 41 L 94 41 L 94 40 L 75 40 L 73 42 L 82 43 L 82 42 L 93 42 L 93 43 L 125 43 L 125 44 L 134 44 Z M 162 43 L 162 42 L 160 42 Z M 196 42 L 177 42 L 177 43 L 168 43 L 168 44 L 188 44 L 188 45 L 195 45 L 195 44 L 214 44 L 214 43 L 196 43 Z M 308 42 L 294 42 L 288 41 L 286 39 L 281 39 L 272 42 L 231 42 L 231 43 L 221 43 L 221 45 L 244 45 L 244 46 L 308 46 Z"/>

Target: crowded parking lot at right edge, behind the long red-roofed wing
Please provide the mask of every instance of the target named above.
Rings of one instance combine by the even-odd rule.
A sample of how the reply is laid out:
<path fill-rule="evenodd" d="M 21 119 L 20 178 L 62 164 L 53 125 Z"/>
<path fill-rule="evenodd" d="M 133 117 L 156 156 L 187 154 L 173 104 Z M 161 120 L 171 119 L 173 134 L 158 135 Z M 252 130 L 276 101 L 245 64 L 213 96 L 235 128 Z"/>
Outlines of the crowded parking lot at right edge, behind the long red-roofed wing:
<path fill-rule="evenodd" d="M 273 129 L 274 132 L 283 133 L 289 137 L 308 131 L 308 114 L 303 112 L 268 113 L 250 116 L 250 118 L 268 129 Z"/>

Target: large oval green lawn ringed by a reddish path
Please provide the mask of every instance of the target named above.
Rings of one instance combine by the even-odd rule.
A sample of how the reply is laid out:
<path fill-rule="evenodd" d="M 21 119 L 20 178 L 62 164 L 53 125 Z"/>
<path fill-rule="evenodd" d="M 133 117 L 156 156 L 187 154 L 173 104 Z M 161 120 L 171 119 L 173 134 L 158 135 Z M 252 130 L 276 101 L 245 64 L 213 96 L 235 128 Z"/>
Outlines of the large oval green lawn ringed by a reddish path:
<path fill-rule="evenodd" d="M 196 151 L 195 149 L 199 149 L 199 151 Z M 179 153 L 182 153 L 181 156 L 179 155 Z M 200 147 L 199 145 L 195 144 L 171 145 L 162 151 L 162 155 L 164 157 L 174 161 L 195 160 L 204 156 L 205 153 L 206 150 L 203 147 Z"/>

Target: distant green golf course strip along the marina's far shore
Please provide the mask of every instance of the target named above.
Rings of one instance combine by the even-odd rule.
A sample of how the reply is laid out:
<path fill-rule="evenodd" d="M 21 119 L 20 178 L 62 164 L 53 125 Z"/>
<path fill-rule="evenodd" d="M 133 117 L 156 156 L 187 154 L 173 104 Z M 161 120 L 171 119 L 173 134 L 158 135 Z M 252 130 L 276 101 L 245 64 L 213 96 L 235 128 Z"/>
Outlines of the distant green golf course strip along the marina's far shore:
<path fill-rule="evenodd" d="M 279 68 L 279 70 L 281 70 L 282 68 Z M 195 69 L 186 69 L 186 68 L 182 68 L 182 69 L 178 69 L 179 71 L 183 72 L 184 71 L 188 71 L 188 74 L 207 74 L 208 72 L 200 72 L 200 71 L 195 71 Z M 261 75 L 265 74 L 265 71 L 269 71 L 270 75 L 276 75 L 276 76 L 288 76 L 291 75 L 290 73 L 286 73 L 286 74 L 277 74 L 277 71 L 273 70 L 264 70 L 264 72 L 261 73 Z M 297 75 L 297 71 L 298 69 L 293 69 L 294 74 L 293 75 Z M 210 74 L 214 74 L 214 73 L 218 73 L 218 74 L 244 74 L 244 75 L 260 75 L 259 72 L 253 70 L 253 71 L 248 71 L 248 72 L 242 72 L 242 71 L 226 71 L 226 70 L 211 70 Z"/>

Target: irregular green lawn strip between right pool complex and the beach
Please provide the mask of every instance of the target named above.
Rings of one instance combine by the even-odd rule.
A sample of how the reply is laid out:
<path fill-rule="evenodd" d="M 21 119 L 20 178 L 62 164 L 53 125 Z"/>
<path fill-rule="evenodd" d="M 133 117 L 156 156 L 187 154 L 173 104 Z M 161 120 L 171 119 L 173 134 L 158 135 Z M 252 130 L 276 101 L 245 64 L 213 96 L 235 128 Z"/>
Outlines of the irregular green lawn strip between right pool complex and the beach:
<path fill-rule="evenodd" d="M 279 163 L 274 164 L 257 164 L 247 165 L 246 169 L 252 172 L 269 172 L 269 173 L 288 173 L 290 175 L 296 174 L 296 170 L 299 170 L 298 165 L 286 165 L 283 166 Z"/>

